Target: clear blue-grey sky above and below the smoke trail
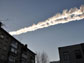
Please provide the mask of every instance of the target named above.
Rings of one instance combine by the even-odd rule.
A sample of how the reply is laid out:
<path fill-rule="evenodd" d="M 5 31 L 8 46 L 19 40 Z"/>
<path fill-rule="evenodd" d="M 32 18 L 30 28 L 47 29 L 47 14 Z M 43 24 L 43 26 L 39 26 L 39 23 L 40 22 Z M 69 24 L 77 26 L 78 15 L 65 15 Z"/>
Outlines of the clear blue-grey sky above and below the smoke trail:
<path fill-rule="evenodd" d="M 8 31 L 29 27 L 62 13 L 64 9 L 79 8 L 84 0 L 0 0 L 0 20 Z M 8 19 L 8 20 L 6 20 Z M 14 36 L 34 52 L 45 51 L 50 61 L 58 61 L 58 47 L 84 43 L 84 19 L 58 24 Z"/>

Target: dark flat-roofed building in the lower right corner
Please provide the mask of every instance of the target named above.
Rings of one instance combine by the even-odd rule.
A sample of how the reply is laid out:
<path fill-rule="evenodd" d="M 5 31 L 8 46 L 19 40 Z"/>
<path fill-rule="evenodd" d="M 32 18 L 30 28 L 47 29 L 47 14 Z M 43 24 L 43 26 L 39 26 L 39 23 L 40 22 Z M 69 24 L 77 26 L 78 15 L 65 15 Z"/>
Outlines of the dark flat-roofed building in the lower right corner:
<path fill-rule="evenodd" d="M 59 47 L 60 63 L 84 63 L 84 43 Z"/>

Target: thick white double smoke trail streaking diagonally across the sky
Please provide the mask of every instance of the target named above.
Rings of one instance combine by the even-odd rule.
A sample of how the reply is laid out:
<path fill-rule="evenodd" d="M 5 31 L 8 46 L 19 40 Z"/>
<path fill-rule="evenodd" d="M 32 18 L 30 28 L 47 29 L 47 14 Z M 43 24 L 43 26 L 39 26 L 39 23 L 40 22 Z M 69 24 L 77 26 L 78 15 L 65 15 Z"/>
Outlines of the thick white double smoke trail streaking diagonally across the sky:
<path fill-rule="evenodd" d="M 47 20 L 43 22 L 39 22 L 37 24 L 33 24 L 32 26 L 25 27 L 22 29 L 19 29 L 17 31 L 9 32 L 11 35 L 20 35 L 22 33 L 35 31 L 37 29 L 49 27 L 56 24 L 63 24 L 68 23 L 71 21 L 77 21 L 84 19 L 84 5 L 80 6 L 80 8 L 71 8 L 68 10 L 63 10 L 62 14 L 58 13 L 55 16 L 48 18 Z"/>

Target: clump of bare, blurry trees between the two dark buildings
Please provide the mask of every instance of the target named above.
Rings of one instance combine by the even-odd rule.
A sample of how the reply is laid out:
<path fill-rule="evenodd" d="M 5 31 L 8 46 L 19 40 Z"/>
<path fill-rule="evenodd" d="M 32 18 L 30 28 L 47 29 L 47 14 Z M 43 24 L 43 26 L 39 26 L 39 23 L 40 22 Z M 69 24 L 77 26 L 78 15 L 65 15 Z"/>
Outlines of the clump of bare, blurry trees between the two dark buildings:
<path fill-rule="evenodd" d="M 36 63 L 49 63 L 48 55 L 45 52 L 37 53 Z"/>

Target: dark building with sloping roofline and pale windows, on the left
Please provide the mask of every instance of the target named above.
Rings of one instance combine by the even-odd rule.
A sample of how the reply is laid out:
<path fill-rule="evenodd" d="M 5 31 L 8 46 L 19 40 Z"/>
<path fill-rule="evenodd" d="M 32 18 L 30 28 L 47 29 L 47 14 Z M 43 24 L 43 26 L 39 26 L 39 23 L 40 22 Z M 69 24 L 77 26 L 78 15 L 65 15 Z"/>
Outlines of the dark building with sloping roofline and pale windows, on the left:
<path fill-rule="evenodd" d="M 0 63 L 35 63 L 35 53 L 6 32 L 0 23 Z"/>

